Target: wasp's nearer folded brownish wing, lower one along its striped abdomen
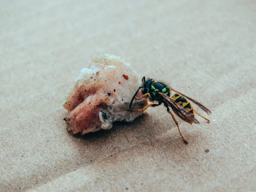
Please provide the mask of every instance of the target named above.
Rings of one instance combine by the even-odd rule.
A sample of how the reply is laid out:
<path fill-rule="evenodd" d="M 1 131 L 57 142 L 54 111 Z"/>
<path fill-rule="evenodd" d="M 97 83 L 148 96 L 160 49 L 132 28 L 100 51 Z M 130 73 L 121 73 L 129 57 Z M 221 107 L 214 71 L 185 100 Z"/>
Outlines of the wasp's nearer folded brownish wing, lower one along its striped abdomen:
<path fill-rule="evenodd" d="M 178 113 L 177 115 L 180 116 L 181 119 L 184 119 L 187 122 L 199 123 L 199 121 L 191 113 L 183 108 L 183 106 L 177 104 L 173 98 L 170 98 L 162 92 L 158 92 L 158 94 L 163 98 L 165 103 L 175 109 L 175 111 Z"/>

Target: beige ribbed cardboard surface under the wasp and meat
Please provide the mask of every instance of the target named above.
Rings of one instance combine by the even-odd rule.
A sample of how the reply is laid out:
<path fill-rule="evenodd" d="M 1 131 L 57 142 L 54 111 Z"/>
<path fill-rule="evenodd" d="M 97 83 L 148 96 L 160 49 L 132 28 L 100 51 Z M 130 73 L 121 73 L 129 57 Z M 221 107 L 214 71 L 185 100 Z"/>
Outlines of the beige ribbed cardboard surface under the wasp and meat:
<path fill-rule="evenodd" d="M 0 5 L 1 191 L 255 190 L 255 1 Z M 184 145 L 158 106 L 69 134 L 61 101 L 104 53 L 199 100 L 211 123 L 179 119 Z"/>

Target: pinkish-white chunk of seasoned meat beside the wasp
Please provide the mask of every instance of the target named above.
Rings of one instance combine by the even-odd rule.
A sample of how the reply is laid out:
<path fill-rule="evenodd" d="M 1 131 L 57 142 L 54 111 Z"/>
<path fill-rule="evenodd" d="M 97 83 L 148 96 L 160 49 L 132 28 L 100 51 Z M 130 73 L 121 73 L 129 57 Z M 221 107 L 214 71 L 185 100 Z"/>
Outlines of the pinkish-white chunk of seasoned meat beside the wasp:
<path fill-rule="evenodd" d="M 89 68 L 81 70 L 63 104 L 69 111 L 65 117 L 68 131 L 83 135 L 111 129 L 114 121 L 133 121 L 143 113 L 129 110 L 139 86 L 138 75 L 121 57 L 106 54 L 95 58 Z M 135 100 L 133 108 L 141 109 L 146 104 L 145 98 Z"/>

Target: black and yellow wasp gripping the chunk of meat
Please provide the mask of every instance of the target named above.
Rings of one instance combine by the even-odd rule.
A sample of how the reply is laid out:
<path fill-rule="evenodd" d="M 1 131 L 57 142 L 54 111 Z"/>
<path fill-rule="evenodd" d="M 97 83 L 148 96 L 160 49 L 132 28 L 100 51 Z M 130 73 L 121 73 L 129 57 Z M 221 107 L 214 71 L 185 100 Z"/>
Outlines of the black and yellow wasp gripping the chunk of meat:
<path fill-rule="evenodd" d="M 137 98 L 136 96 L 137 96 L 139 90 L 142 90 L 143 95 L 141 97 Z M 171 91 L 175 92 L 175 94 L 172 97 L 170 97 Z M 151 104 L 147 104 L 142 109 L 133 109 L 132 110 L 132 104 L 133 104 L 134 99 L 140 100 L 142 98 L 148 98 L 151 101 Z M 175 119 L 173 113 L 170 112 L 169 108 L 172 108 L 173 112 L 178 117 L 180 117 L 182 120 L 184 120 L 190 124 L 192 124 L 193 122 L 199 123 L 199 121 L 195 118 L 195 113 L 197 115 L 199 115 L 200 117 L 204 118 L 208 123 L 210 122 L 209 119 L 207 119 L 206 117 L 204 117 L 200 113 L 198 113 L 193 108 L 193 106 L 190 104 L 190 102 L 188 100 L 197 104 L 208 115 L 211 114 L 209 109 L 207 109 L 204 105 L 202 105 L 195 99 L 192 99 L 192 98 L 174 90 L 173 88 L 166 86 L 162 82 L 155 82 L 155 80 L 151 79 L 151 78 L 148 78 L 146 80 L 145 77 L 143 77 L 142 85 L 135 92 L 135 94 L 130 102 L 129 109 L 132 111 L 145 111 L 150 106 L 154 107 L 154 106 L 158 106 L 163 103 L 167 109 L 167 112 L 172 116 L 172 118 L 178 128 L 181 138 L 183 139 L 184 143 L 187 144 L 188 142 L 184 139 L 183 135 L 181 134 L 179 124 L 178 124 L 177 120 Z"/>

